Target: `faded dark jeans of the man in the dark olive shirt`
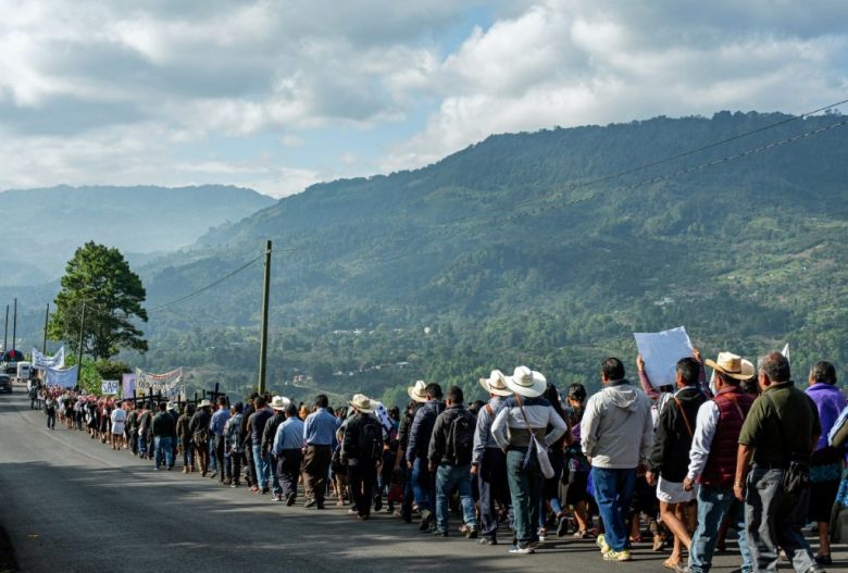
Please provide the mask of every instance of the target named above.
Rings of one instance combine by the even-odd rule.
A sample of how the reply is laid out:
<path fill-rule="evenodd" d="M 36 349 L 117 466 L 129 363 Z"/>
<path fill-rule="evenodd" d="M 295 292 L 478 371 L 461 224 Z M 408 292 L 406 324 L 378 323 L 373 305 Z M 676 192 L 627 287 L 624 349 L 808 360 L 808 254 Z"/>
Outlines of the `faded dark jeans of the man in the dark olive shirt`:
<path fill-rule="evenodd" d="M 812 551 L 801 527 L 807 521 L 810 490 L 795 496 L 783 490 L 784 470 L 753 466 L 748 474 L 745 498 L 745 526 L 751 560 L 757 571 L 777 570 L 777 546 L 793 562 L 795 571 L 815 566 Z"/>

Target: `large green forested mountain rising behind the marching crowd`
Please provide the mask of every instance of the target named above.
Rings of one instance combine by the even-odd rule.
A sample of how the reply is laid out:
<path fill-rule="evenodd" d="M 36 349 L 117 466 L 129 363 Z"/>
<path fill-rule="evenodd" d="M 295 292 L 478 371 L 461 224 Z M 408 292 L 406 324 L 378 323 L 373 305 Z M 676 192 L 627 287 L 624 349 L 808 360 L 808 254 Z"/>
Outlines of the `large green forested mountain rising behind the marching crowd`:
<path fill-rule="evenodd" d="M 844 372 L 848 126 L 790 120 L 491 136 L 422 170 L 313 186 L 142 274 L 155 306 L 273 239 L 272 386 L 313 374 L 400 399 L 415 377 L 471 389 L 520 362 L 595 384 L 608 353 L 634 358 L 634 331 L 681 324 L 707 353 L 789 341 L 799 369 L 830 359 Z M 159 352 L 142 361 L 253 384 L 261 272 L 153 312 Z"/>

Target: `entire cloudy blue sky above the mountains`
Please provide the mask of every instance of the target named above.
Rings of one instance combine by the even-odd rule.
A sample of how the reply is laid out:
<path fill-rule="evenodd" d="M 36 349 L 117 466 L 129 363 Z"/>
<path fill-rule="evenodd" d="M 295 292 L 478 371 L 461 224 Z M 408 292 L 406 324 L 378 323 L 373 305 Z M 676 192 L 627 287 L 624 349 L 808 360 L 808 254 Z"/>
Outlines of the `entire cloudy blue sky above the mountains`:
<path fill-rule="evenodd" d="M 416 169 L 491 134 L 848 99 L 844 0 L 0 0 L 0 189 Z"/>

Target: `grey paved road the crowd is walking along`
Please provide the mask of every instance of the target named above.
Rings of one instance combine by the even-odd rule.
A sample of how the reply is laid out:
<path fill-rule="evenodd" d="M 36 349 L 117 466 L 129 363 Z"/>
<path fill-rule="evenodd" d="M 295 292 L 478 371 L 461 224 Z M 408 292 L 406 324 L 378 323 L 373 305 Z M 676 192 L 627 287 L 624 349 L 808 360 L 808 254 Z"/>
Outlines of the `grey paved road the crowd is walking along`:
<path fill-rule="evenodd" d="M 645 544 L 632 563 L 604 563 L 584 540 L 515 557 L 506 546 L 433 538 L 386 513 L 358 523 L 335 507 L 285 508 L 198 474 L 154 472 L 82 432 L 48 431 L 15 391 L 0 397 L 0 524 L 22 571 L 663 571 L 666 555 Z M 737 565 L 724 555 L 714 571 Z"/>

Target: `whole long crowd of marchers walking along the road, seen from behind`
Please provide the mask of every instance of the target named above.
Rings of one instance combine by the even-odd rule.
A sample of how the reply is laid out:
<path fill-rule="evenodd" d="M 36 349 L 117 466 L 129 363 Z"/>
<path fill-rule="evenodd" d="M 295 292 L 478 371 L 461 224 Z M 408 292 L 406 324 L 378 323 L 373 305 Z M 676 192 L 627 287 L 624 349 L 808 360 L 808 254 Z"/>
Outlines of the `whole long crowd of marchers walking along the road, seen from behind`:
<path fill-rule="evenodd" d="M 644 550 L 669 551 L 663 565 L 676 571 L 709 571 L 728 538 L 744 573 L 775 571 L 781 558 L 803 573 L 831 564 L 848 523 L 848 408 L 833 364 L 815 364 L 806 389 L 778 352 L 755 368 L 695 350 L 659 388 L 645 366 L 638 357 L 634 383 L 606 359 L 590 397 L 526 366 L 495 370 L 479 381 L 488 401 L 470 404 L 460 387 L 419 381 L 402 411 L 363 395 L 337 408 L 320 395 L 309 408 L 254 394 L 182 411 L 61 388 L 29 397 L 49 428 L 59 419 L 155 470 L 179 465 L 285 506 L 299 491 L 304 508 L 334 499 L 357 521 L 385 505 L 421 532 L 506 541 L 513 555 L 569 537 L 629 561 L 645 535 Z"/>

